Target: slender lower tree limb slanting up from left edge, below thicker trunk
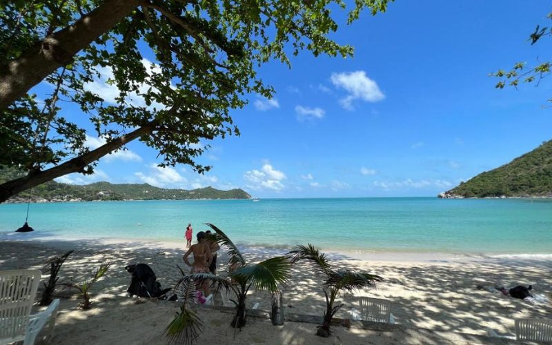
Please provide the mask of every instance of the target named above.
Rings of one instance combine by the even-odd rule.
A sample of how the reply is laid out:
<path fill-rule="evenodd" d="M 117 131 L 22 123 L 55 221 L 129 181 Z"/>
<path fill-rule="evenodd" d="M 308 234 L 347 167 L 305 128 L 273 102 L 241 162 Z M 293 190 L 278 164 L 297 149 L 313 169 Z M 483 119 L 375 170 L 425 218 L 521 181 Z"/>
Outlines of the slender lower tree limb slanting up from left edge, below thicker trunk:
<path fill-rule="evenodd" d="M 38 186 L 39 184 L 43 184 L 44 182 L 51 181 L 57 177 L 70 174 L 71 172 L 83 172 L 84 168 L 86 168 L 86 166 L 93 161 L 97 161 L 108 153 L 121 148 L 128 142 L 141 137 L 142 135 L 148 134 L 154 128 L 153 122 L 150 122 L 146 126 L 142 126 L 134 132 L 128 133 L 128 135 L 121 135 L 121 137 L 113 139 L 95 150 L 70 159 L 63 164 L 59 164 L 59 166 L 0 184 L 0 204 L 23 190 Z"/>

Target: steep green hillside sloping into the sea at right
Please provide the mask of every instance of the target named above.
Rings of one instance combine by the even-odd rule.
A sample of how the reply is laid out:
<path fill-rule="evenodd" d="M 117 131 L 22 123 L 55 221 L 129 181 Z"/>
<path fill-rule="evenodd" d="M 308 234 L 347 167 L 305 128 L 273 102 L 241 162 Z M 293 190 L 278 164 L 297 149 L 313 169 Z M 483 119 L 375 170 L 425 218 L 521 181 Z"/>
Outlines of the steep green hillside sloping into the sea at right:
<path fill-rule="evenodd" d="M 552 140 L 508 164 L 482 172 L 440 198 L 552 197 Z"/>

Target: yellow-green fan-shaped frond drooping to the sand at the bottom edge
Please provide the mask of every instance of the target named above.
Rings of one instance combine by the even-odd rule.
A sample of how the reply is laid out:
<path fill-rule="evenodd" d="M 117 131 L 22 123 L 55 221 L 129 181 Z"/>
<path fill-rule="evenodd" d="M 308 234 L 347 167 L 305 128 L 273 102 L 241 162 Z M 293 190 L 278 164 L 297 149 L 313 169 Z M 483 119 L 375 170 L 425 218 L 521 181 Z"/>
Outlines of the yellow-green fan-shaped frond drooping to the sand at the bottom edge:
<path fill-rule="evenodd" d="M 195 340 L 201 334 L 203 322 L 197 316 L 195 311 L 186 308 L 186 304 L 180 307 L 180 313 L 177 313 L 167 328 L 165 336 L 169 344 L 195 344 Z"/>

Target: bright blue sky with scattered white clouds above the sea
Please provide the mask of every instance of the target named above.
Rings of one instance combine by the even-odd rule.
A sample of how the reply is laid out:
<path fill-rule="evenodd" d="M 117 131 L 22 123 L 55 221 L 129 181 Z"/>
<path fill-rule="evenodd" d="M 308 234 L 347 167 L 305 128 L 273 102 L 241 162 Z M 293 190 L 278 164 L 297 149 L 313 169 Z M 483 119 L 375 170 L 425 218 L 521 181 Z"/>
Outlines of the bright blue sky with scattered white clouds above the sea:
<path fill-rule="evenodd" d="M 255 197 L 435 196 L 552 138 L 552 110 L 542 108 L 551 83 L 497 90 L 488 76 L 549 59 L 551 39 L 527 38 L 550 11 L 545 1 L 395 1 L 334 35 L 355 46 L 352 59 L 303 52 L 291 69 L 262 66 L 275 98 L 253 95 L 231 112 L 242 135 L 204 143 L 212 148 L 199 161 L 213 166 L 204 176 L 158 168 L 156 152 L 136 141 L 101 159 L 95 175 L 57 181 Z M 90 132 L 89 143 L 101 139 Z"/>

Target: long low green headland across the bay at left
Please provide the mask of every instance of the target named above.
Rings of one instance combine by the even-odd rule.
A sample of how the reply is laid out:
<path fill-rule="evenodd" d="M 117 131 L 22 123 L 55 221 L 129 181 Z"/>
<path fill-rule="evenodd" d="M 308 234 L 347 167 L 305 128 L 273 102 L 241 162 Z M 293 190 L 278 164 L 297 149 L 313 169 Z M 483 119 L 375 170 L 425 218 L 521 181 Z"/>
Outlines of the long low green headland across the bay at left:
<path fill-rule="evenodd" d="M 21 174 L 0 170 L 0 183 Z M 84 186 L 48 181 L 32 188 L 32 202 L 104 201 L 104 200 L 186 200 L 186 199 L 251 199 L 245 190 L 218 190 L 213 187 L 186 189 L 158 188 L 149 184 L 110 184 L 96 182 Z M 28 191 L 8 199 L 8 203 L 28 201 Z"/>

